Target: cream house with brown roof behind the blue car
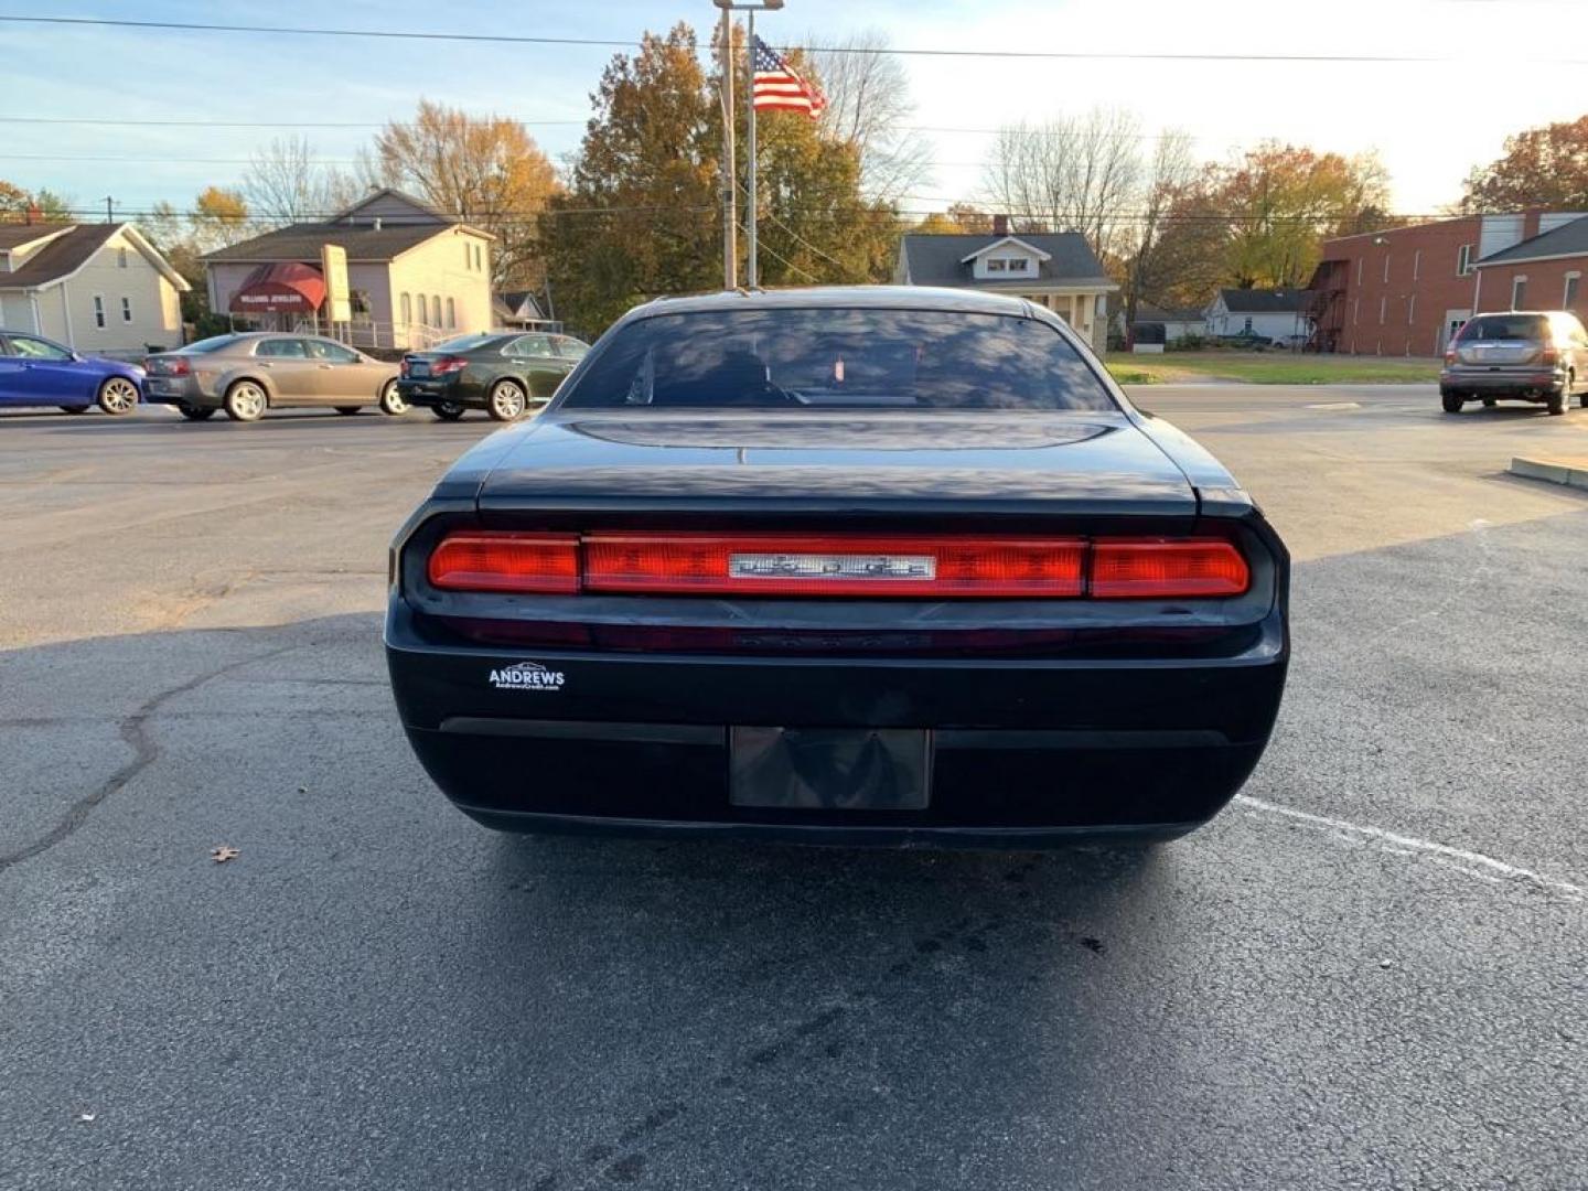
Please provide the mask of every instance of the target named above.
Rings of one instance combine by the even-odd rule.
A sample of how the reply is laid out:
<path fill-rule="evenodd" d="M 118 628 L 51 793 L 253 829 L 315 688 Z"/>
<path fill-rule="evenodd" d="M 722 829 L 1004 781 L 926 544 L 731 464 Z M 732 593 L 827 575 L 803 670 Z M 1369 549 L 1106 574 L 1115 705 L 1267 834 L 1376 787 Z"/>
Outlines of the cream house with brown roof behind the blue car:
<path fill-rule="evenodd" d="M 191 286 L 132 224 L 0 224 L 0 327 L 84 353 L 183 341 Z"/>

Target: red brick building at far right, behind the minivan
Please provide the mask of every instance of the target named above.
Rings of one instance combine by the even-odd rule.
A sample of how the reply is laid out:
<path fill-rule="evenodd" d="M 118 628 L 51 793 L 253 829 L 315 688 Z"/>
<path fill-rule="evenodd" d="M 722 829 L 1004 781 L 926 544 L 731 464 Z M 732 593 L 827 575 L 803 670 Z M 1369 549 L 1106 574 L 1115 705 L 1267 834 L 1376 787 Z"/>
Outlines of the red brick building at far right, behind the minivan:
<path fill-rule="evenodd" d="M 1528 305 L 1561 308 L 1566 273 L 1585 272 L 1583 260 L 1582 213 L 1474 214 L 1326 240 L 1309 284 L 1313 343 L 1358 356 L 1439 356 L 1474 313 L 1513 308 L 1515 276 L 1526 278 Z"/>

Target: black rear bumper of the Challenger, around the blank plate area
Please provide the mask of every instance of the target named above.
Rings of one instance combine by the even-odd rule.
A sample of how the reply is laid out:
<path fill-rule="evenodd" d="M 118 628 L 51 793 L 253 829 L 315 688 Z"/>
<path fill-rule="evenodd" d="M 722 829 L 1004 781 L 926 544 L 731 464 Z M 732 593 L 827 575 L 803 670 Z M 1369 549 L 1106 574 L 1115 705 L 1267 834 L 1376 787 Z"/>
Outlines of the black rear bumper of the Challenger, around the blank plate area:
<path fill-rule="evenodd" d="M 1169 837 L 1235 794 L 1285 684 L 1275 608 L 1223 657 L 810 659 L 530 651 L 562 683 L 495 689 L 526 653 L 386 627 L 403 727 L 467 815 L 510 831 L 1031 848 Z M 929 730 L 916 810 L 730 800 L 732 726 Z"/>

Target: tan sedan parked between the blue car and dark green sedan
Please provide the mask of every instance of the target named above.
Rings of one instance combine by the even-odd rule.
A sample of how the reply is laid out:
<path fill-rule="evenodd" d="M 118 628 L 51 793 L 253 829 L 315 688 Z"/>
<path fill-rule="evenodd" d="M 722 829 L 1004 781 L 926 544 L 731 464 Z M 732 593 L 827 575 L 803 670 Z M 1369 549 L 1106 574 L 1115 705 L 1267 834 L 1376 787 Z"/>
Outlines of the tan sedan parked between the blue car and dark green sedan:
<path fill-rule="evenodd" d="M 214 335 L 149 356 L 148 399 L 175 405 L 189 421 L 254 422 L 265 410 L 327 407 L 353 414 L 365 405 L 402 414 L 397 365 L 319 335 L 249 332 Z"/>

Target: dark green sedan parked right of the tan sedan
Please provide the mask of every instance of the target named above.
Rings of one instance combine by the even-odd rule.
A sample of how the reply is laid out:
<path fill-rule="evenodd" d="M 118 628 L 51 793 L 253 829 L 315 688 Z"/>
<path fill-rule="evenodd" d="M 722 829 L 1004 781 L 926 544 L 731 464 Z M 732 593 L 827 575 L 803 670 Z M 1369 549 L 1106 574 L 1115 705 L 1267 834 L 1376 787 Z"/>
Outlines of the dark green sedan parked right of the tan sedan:
<path fill-rule="evenodd" d="M 430 351 L 402 359 L 397 391 L 410 405 L 427 405 L 453 422 L 464 410 L 484 410 L 511 422 L 545 405 L 589 345 L 572 335 L 538 330 L 494 330 L 462 335 Z"/>

